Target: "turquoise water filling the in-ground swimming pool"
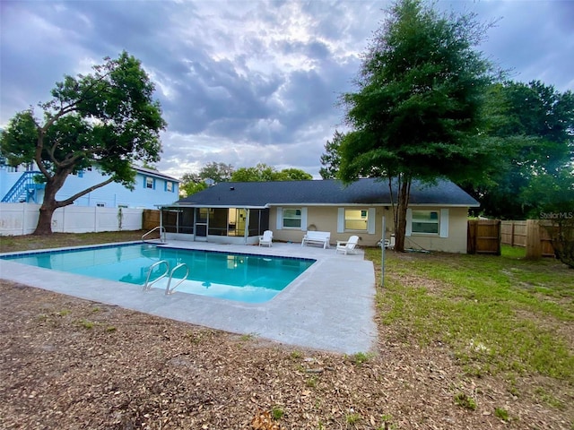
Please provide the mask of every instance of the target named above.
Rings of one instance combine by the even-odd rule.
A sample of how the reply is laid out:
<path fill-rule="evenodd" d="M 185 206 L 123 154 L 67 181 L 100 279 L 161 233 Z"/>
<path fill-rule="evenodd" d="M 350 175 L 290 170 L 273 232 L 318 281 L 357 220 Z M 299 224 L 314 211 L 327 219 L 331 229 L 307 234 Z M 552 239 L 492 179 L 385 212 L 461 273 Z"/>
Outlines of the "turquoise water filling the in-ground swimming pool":
<path fill-rule="evenodd" d="M 187 264 L 189 275 L 176 292 L 221 297 L 247 303 L 263 303 L 275 297 L 315 260 L 254 254 L 226 254 L 156 246 L 106 245 L 52 252 L 3 255 L 0 258 L 54 271 L 66 271 L 105 280 L 141 285 L 155 262 L 167 261 L 170 271 Z M 156 266 L 150 280 L 165 271 Z M 173 274 L 171 287 L 186 274 L 180 268 Z M 152 285 L 165 289 L 167 277 Z"/>

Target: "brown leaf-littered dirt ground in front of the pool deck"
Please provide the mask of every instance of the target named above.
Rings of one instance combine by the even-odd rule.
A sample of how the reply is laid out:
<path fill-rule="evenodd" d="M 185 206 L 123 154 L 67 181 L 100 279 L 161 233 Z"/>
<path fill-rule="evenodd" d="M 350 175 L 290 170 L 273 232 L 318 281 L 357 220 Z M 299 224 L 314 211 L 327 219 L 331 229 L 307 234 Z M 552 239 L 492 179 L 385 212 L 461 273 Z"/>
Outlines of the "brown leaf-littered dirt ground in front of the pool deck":
<path fill-rule="evenodd" d="M 535 395 L 560 391 L 555 380 L 524 375 L 510 390 L 465 375 L 439 342 L 422 348 L 378 325 L 377 350 L 346 357 L 0 280 L 0 427 L 574 428 L 571 402 Z"/>

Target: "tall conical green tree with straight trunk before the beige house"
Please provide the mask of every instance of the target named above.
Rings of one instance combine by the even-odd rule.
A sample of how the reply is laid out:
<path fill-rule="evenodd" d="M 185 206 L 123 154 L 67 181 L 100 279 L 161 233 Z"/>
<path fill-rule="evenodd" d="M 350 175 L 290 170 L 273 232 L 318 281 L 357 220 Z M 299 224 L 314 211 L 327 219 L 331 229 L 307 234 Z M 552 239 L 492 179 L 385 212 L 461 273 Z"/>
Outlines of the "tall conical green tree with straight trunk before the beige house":
<path fill-rule="evenodd" d="M 339 150 L 339 176 L 347 183 L 388 178 L 398 194 L 397 251 L 404 251 L 413 179 L 478 176 L 489 159 L 480 131 L 491 63 L 474 49 L 486 29 L 473 14 L 398 1 L 364 56 L 358 90 L 342 98 L 351 131 Z"/>

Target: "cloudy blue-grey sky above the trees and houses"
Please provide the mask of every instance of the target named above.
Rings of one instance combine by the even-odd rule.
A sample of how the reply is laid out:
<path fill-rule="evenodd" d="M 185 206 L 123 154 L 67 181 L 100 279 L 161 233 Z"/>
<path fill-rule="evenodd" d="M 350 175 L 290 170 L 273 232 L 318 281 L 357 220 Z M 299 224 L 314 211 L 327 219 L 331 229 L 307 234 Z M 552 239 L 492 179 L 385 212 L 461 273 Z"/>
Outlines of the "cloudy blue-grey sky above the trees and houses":
<path fill-rule="evenodd" d="M 157 167 L 262 162 L 315 177 L 388 1 L 0 0 L 0 127 L 64 74 L 122 50 L 156 84 L 168 122 Z M 439 0 L 496 21 L 480 47 L 519 82 L 574 90 L 574 0 Z M 37 110 L 38 112 L 38 110 Z"/>

